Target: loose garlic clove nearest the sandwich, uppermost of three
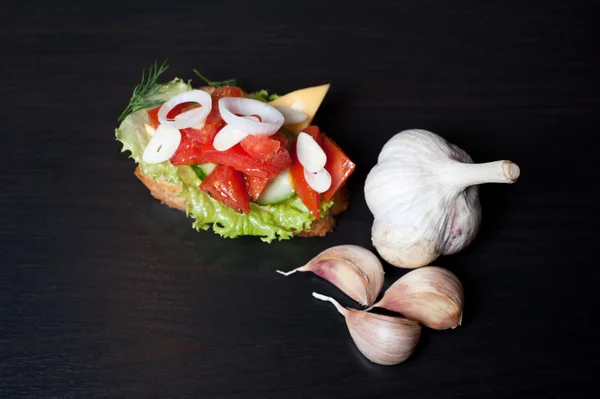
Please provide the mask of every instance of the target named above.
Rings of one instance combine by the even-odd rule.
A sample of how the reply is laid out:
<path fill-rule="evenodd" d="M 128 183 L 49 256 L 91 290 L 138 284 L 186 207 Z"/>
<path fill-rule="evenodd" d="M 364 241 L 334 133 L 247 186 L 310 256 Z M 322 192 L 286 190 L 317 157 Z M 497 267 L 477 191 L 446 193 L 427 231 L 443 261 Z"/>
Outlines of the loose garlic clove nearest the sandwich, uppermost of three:
<path fill-rule="evenodd" d="M 289 272 L 313 272 L 363 306 L 371 305 L 383 287 L 383 267 L 375 254 L 358 245 L 338 245 L 321 252 L 306 265 Z"/>

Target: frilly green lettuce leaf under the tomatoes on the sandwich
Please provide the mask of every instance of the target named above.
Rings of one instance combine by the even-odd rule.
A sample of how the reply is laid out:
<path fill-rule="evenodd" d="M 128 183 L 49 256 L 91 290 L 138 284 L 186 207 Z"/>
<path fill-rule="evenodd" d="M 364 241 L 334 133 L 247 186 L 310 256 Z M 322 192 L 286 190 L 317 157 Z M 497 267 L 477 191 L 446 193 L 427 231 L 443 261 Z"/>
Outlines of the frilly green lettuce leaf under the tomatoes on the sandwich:
<path fill-rule="evenodd" d="M 155 97 L 164 101 L 175 94 L 191 90 L 189 83 L 175 79 L 165 85 Z M 308 211 L 300 198 L 294 196 L 276 205 L 260 206 L 250 203 L 250 213 L 241 214 L 221 204 L 202 192 L 198 186 L 201 180 L 189 166 L 174 166 L 169 161 L 147 165 L 142 154 L 150 137 L 144 124 L 148 123 L 147 110 L 140 110 L 127 116 L 116 129 L 116 138 L 123 144 L 122 151 L 129 151 L 144 174 L 157 180 L 161 176 L 170 183 L 181 187 L 179 196 L 185 200 L 187 214 L 194 218 L 192 226 L 197 230 L 210 227 L 222 237 L 235 238 L 242 235 L 259 236 L 262 241 L 284 240 L 294 232 L 308 230 L 315 217 Z M 329 210 L 333 201 L 323 203 L 321 215 Z"/>

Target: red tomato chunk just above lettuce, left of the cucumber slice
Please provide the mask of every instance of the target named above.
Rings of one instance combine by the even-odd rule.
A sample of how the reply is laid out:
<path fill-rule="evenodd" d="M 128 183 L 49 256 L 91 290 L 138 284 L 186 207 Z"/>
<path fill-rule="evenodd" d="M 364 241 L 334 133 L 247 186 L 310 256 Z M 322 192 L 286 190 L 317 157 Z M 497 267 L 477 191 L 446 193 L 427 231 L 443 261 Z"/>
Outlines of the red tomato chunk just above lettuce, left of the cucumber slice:
<path fill-rule="evenodd" d="M 238 212 L 250 212 L 250 197 L 246 191 L 244 175 L 230 166 L 217 165 L 202 180 L 200 189 Z"/>

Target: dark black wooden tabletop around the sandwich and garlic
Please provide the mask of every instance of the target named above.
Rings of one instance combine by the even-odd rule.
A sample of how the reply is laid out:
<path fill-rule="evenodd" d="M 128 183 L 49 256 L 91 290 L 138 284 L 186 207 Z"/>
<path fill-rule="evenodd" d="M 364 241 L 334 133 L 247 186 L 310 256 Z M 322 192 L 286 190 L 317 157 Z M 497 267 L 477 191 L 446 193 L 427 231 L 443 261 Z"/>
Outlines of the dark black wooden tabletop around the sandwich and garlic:
<path fill-rule="evenodd" d="M 594 396 L 597 1 L 2 4 L 0 397 Z M 224 240 L 151 199 L 114 129 L 166 57 L 168 79 L 332 84 L 315 122 L 358 164 L 334 234 Z M 483 186 L 476 241 L 435 262 L 463 326 L 381 367 L 310 293 L 350 300 L 274 270 L 370 248 L 364 178 L 407 128 L 521 178 Z"/>

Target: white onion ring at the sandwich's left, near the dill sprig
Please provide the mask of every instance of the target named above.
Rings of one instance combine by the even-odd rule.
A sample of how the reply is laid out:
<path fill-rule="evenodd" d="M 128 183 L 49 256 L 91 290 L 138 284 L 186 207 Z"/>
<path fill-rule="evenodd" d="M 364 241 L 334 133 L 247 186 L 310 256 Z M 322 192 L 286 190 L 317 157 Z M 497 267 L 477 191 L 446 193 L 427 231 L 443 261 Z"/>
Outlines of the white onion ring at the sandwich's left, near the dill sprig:
<path fill-rule="evenodd" d="M 167 119 L 167 115 L 169 115 L 169 112 L 173 108 L 179 104 L 188 102 L 198 103 L 201 107 L 183 112 L 175 116 L 172 120 Z M 210 94 L 203 90 L 190 90 L 177 94 L 164 103 L 158 110 L 158 121 L 163 125 L 174 126 L 177 129 L 186 129 L 188 127 L 201 128 L 211 109 L 212 98 Z"/>

